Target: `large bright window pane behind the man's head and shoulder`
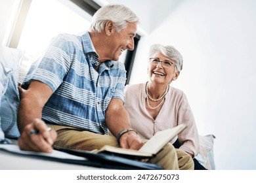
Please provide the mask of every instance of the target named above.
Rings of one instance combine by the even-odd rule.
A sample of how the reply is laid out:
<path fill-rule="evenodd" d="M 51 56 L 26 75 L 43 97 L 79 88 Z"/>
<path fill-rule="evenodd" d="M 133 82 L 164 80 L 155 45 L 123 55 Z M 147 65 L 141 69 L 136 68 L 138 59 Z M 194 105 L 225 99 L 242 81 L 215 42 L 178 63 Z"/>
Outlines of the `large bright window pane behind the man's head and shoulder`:
<path fill-rule="evenodd" d="M 90 21 L 87 12 L 79 9 L 71 1 L 32 0 L 18 43 L 18 49 L 25 51 L 22 65 L 30 67 L 33 59 L 47 48 L 56 35 L 79 34 L 89 28 Z"/>

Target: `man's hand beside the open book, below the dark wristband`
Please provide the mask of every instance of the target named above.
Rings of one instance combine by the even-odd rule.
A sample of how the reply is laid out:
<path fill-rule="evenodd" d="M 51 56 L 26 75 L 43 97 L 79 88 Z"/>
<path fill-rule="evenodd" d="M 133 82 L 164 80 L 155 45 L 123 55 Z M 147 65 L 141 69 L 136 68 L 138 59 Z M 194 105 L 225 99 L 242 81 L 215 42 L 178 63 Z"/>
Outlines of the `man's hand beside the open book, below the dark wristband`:
<path fill-rule="evenodd" d="M 121 148 L 139 150 L 143 142 L 135 131 L 127 131 L 120 137 L 119 144 Z"/>

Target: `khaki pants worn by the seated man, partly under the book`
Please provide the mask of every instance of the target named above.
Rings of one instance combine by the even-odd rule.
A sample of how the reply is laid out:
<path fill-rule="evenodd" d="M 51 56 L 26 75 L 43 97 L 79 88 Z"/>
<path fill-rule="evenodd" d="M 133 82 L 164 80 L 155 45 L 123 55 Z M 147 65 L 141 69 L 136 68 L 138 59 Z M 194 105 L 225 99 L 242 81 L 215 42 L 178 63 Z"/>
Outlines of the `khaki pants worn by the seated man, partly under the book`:
<path fill-rule="evenodd" d="M 62 125 L 51 125 L 56 130 L 58 137 L 54 146 L 65 148 L 74 148 L 77 150 L 95 150 L 108 144 L 110 146 L 119 146 L 116 137 L 111 135 L 100 135 L 90 131 L 83 131 L 75 127 L 66 127 Z M 172 144 L 167 144 L 158 154 L 149 161 L 156 163 L 166 170 L 192 170 L 194 169 L 193 159 L 184 151 L 175 149 Z"/>

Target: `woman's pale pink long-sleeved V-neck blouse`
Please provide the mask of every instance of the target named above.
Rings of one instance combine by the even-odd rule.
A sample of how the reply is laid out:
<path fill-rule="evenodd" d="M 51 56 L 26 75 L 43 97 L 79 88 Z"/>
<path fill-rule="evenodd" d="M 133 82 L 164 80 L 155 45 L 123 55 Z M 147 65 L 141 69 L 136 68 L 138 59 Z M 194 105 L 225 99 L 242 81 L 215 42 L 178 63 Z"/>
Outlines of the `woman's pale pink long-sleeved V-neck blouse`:
<path fill-rule="evenodd" d="M 145 86 L 146 83 L 141 83 L 127 85 L 125 88 L 125 108 L 129 112 L 132 127 L 138 131 L 142 139 L 150 139 L 153 136 L 153 122 L 156 123 L 156 132 L 184 123 L 186 129 L 179 133 L 171 144 L 179 138 L 182 144 L 180 149 L 196 156 L 199 152 L 198 129 L 186 95 L 170 86 L 165 102 L 154 120 L 146 110 Z"/>

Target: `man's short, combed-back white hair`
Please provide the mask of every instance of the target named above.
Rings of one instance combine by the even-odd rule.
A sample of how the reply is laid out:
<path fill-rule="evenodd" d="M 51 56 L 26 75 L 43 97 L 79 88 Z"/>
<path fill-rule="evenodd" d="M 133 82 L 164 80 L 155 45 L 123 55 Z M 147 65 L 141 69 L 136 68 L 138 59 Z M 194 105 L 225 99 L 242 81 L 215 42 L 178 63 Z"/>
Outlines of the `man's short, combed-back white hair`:
<path fill-rule="evenodd" d="M 93 15 L 89 31 L 101 33 L 109 20 L 113 22 L 117 33 L 125 29 L 127 22 L 139 23 L 138 16 L 130 8 L 124 5 L 106 5 L 99 8 Z"/>

